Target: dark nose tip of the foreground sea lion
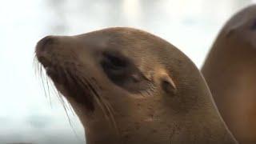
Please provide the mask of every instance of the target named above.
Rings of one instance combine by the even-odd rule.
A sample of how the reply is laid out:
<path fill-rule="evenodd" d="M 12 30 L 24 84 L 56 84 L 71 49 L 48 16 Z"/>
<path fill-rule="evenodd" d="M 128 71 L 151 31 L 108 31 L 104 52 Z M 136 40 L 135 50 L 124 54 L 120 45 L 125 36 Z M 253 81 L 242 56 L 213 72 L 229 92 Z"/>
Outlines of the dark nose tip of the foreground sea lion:
<path fill-rule="evenodd" d="M 52 35 L 46 36 L 45 38 L 42 38 L 36 47 L 37 52 L 45 51 L 47 48 L 49 48 L 51 45 L 53 45 L 56 42 L 56 38 Z"/>

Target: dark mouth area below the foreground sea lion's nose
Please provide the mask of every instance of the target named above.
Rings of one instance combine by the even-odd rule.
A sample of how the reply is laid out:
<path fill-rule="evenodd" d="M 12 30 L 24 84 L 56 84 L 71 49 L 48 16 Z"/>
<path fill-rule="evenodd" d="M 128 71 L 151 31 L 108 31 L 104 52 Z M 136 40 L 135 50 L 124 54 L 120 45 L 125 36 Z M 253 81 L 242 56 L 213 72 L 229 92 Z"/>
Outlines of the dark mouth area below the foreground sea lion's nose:
<path fill-rule="evenodd" d="M 38 62 L 46 70 L 47 76 L 51 78 L 57 90 L 62 87 L 64 96 L 74 98 L 78 103 L 82 103 L 88 110 L 94 110 L 92 86 L 74 65 L 62 66 L 58 61 L 51 62 L 46 57 L 38 56 Z M 55 63 L 57 62 L 57 63 Z"/>

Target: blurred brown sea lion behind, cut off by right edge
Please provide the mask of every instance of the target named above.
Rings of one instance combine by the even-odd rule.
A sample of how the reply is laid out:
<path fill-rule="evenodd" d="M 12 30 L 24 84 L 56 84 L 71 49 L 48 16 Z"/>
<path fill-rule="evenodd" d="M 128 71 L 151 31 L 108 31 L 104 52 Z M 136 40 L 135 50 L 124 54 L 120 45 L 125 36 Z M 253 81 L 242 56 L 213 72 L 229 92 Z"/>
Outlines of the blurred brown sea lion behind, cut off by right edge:
<path fill-rule="evenodd" d="M 241 143 L 256 143 L 256 5 L 235 14 L 214 42 L 202 74 Z"/>

